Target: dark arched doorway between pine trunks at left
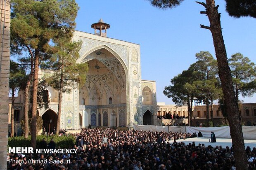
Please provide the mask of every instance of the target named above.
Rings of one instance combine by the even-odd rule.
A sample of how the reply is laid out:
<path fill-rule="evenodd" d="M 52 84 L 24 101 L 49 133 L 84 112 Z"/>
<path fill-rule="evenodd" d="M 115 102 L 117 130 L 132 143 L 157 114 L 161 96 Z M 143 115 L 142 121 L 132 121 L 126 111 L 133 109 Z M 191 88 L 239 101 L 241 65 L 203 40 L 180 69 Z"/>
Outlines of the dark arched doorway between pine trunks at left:
<path fill-rule="evenodd" d="M 52 123 L 50 123 L 50 132 L 53 132 L 54 128 L 56 130 L 57 119 L 58 119 L 56 112 L 49 109 L 46 112 L 44 112 L 44 114 L 42 115 L 42 119 L 43 119 L 43 127 L 45 127 L 47 132 L 49 132 L 50 119 L 52 119 Z"/>

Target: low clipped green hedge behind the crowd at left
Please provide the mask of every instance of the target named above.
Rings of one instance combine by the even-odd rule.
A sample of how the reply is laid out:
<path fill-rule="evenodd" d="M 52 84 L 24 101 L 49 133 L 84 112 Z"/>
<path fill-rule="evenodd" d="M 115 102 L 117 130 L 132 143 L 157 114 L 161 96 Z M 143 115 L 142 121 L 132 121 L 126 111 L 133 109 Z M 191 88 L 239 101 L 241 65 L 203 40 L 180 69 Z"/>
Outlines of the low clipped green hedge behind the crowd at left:
<path fill-rule="evenodd" d="M 38 135 L 36 137 L 36 147 L 39 147 L 39 142 L 45 138 L 46 135 Z M 50 139 L 53 138 L 56 148 L 68 148 L 72 147 L 74 144 L 76 144 L 76 138 L 69 135 L 69 136 L 48 136 L 48 142 L 50 142 Z M 31 147 L 31 136 L 28 136 L 28 139 L 25 139 L 23 136 L 20 137 L 9 137 L 8 138 L 8 147 Z"/>

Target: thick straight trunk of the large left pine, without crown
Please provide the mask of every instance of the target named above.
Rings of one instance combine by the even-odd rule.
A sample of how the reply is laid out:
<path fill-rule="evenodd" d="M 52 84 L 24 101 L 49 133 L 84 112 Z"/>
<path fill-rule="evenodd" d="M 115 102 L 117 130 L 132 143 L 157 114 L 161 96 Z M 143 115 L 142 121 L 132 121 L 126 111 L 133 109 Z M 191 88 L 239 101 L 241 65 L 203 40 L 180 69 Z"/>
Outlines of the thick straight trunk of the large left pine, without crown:
<path fill-rule="evenodd" d="M 32 92 L 32 119 L 31 119 L 31 147 L 36 149 L 36 113 L 37 113 L 37 91 L 38 91 L 38 69 L 39 54 L 35 51 L 35 68 L 33 75 L 33 92 Z"/>

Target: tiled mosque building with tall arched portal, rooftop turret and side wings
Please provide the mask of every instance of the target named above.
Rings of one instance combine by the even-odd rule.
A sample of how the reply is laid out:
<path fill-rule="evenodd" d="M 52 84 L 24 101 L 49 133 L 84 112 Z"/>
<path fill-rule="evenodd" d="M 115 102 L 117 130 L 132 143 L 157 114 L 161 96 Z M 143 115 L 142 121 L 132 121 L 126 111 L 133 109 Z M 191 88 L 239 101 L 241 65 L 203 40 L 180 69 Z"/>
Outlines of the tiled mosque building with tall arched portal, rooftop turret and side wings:
<path fill-rule="evenodd" d="M 88 63 L 89 70 L 85 84 L 64 93 L 60 128 L 71 130 L 89 125 L 132 128 L 134 124 L 186 124 L 187 119 L 158 119 L 157 116 L 164 116 L 167 112 L 187 117 L 187 106 L 178 107 L 156 102 L 156 82 L 141 78 L 140 45 L 107 37 L 107 29 L 110 26 L 102 19 L 92 24 L 92 28 L 95 30 L 94 34 L 75 31 L 73 35 L 73 41 L 83 43 L 77 62 Z M 47 74 L 51 74 L 51 71 L 39 71 L 39 77 Z M 47 90 L 50 96 L 49 108 L 40 109 L 39 114 L 43 118 L 43 126 L 47 126 L 51 120 L 50 128 L 53 130 L 57 125 L 59 93 L 51 86 L 47 87 Z M 11 104 L 9 124 L 10 108 Z M 194 106 L 192 123 L 197 125 L 204 122 L 205 112 L 205 106 Z M 256 122 L 256 103 L 245 106 L 242 112 L 251 124 Z M 17 134 L 21 133 L 19 121 L 23 115 L 24 95 L 20 91 L 14 104 Z M 213 107 L 213 116 L 216 120 L 223 119 L 218 106 Z"/>

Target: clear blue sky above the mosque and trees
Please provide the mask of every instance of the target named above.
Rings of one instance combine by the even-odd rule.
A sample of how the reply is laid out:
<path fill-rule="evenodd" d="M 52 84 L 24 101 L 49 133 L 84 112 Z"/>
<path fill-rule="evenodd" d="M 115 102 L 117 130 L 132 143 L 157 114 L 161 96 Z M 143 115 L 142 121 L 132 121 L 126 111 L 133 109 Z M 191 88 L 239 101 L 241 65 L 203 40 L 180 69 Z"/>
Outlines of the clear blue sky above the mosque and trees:
<path fill-rule="evenodd" d="M 215 0 L 221 13 L 221 26 L 228 58 L 237 52 L 256 63 L 256 19 L 235 19 L 225 11 L 225 1 Z M 196 61 L 195 54 L 210 51 L 215 57 L 204 7 L 185 0 L 174 9 L 158 9 L 147 0 L 76 0 L 80 9 L 76 30 L 94 33 L 92 23 L 100 18 L 110 24 L 107 37 L 140 44 L 142 79 L 156 81 L 157 102 L 173 104 L 163 94 L 170 80 Z M 240 98 L 256 102 L 252 98 Z"/>

